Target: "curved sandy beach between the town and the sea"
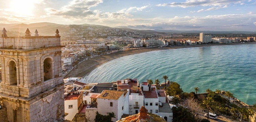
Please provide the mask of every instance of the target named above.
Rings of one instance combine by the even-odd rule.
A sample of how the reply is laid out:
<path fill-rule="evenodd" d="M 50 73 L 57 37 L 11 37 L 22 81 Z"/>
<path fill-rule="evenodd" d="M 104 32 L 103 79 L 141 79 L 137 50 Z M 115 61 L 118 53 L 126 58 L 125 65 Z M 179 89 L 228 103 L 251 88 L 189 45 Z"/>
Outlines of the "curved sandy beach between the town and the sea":
<path fill-rule="evenodd" d="M 238 44 L 256 44 L 256 42 L 250 43 L 228 43 L 228 44 L 207 44 L 207 45 L 189 45 L 189 46 L 170 46 L 170 47 L 162 47 L 162 48 L 144 48 L 144 49 L 131 49 L 124 50 L 121 52 L 115 52 L 103 56 L 98 56 L 94 58 L 90 58 L 89 60 L 85 60 L 78 65 L 77 69 L 72 70 L 68 73 L 64 78 L 68 77 L 84 77 L 88 75 L 93 69 L 96 67 L 111 61 L 113 59 L 117 59 L 123 56 L 144 53 L 154 50 L 164 50 L 164 49 L 178 49 L 178 48 L 189 48 L 189 47 L 204 47 L 204 46 L 218 46 L 218 45 L 238 45 Z"/>

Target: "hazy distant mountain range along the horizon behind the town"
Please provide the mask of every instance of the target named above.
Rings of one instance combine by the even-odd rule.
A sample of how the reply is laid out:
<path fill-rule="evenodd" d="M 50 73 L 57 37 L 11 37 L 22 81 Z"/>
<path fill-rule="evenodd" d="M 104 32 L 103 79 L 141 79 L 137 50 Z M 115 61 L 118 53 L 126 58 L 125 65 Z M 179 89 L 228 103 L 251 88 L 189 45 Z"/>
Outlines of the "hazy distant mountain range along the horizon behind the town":
<path fill-rule="evenodd" d="M 32 24 L 24 24 L 24 23 L 14 23 L 14 24 L 0 24 L 0 29 L 5 27 L 6 31 L 14 31 L 19 33 L 25 33 L 26 29 L 29 28 L 30 32 L 33 34 L 35 29 L 39 32 L 39 35 L 55 35 L 56 29 L 59 30 L 60 33 L 70 33 L 72 30 L 76 29 L 72 25 L 63 25 L 63 24 L 56 24 L 56 23 L 49 23 L 49 22 L 41 22 L 41 23 L 32 23 Z M 93 25 L 93 24 L 80 24 L 79 28 L 87 28 L 93 27 L 97 28 L 99 31 L 104 31 L 103 28 L 108 28 L 110 30 L 126 30 L 131 33 L 141 33 L 141 34 L 154 34 L 154 33 L 207 33 L 207 34 L 256 34 L 256 32 L 247 32 L 247 31 L 178 31 L 178 30 L 163 30 L 163 29 L 154 29 L 154 30 L 138 30 L 138 29 L 131 29 L 125 27 L 109 27 L 103 25 Z M 101 28 L 101 29 L 99 29 Z M 88 31 L 87 31 L 88 32 Z M 104 33 L 104 32 L 100 32 Z M 117 36 L 115 34 L 111 36 Z"/>

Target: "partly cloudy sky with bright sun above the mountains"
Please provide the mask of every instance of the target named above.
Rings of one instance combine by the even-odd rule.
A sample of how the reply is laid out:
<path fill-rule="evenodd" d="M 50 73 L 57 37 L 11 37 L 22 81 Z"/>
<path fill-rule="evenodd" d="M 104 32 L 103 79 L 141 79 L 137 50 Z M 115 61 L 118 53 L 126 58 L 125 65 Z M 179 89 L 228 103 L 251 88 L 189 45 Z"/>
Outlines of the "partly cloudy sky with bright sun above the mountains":
<path fill-rule="evenodd" d="M 256 32 L 256 0 L 0 0 L 0 23 Z"/>

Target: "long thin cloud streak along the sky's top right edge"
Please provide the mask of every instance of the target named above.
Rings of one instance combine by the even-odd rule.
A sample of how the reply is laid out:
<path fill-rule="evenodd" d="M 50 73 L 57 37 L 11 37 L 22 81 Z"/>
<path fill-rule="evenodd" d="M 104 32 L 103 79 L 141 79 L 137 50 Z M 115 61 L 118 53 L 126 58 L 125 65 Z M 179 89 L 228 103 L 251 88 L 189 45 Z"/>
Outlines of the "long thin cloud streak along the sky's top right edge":
<path fill-rule="evenodd" d="M 244 0 L 187 0 L 186 2 L 172 2 L 172 3 L 163 3 L 156 6 L 170 6 L 170 7 L 195 7 L 195 6 L 225 6 L 229 4 L 238 4 Z"/>

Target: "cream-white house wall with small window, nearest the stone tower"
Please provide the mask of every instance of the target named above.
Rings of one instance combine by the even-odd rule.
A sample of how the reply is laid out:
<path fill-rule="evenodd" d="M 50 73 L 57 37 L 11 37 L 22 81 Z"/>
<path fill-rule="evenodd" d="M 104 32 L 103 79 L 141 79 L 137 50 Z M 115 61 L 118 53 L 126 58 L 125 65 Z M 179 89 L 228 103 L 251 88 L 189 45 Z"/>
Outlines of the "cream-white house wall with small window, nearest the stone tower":
<path fill-rule="evenodd" d="M 78 105 L 77 100 L 65 100 L 64 101 L 65 106 L 65 113 L 68 113 L 68 115 L 65 117 L 67 120 L 72 120 L 76 113 L 78 113 Z"/>

